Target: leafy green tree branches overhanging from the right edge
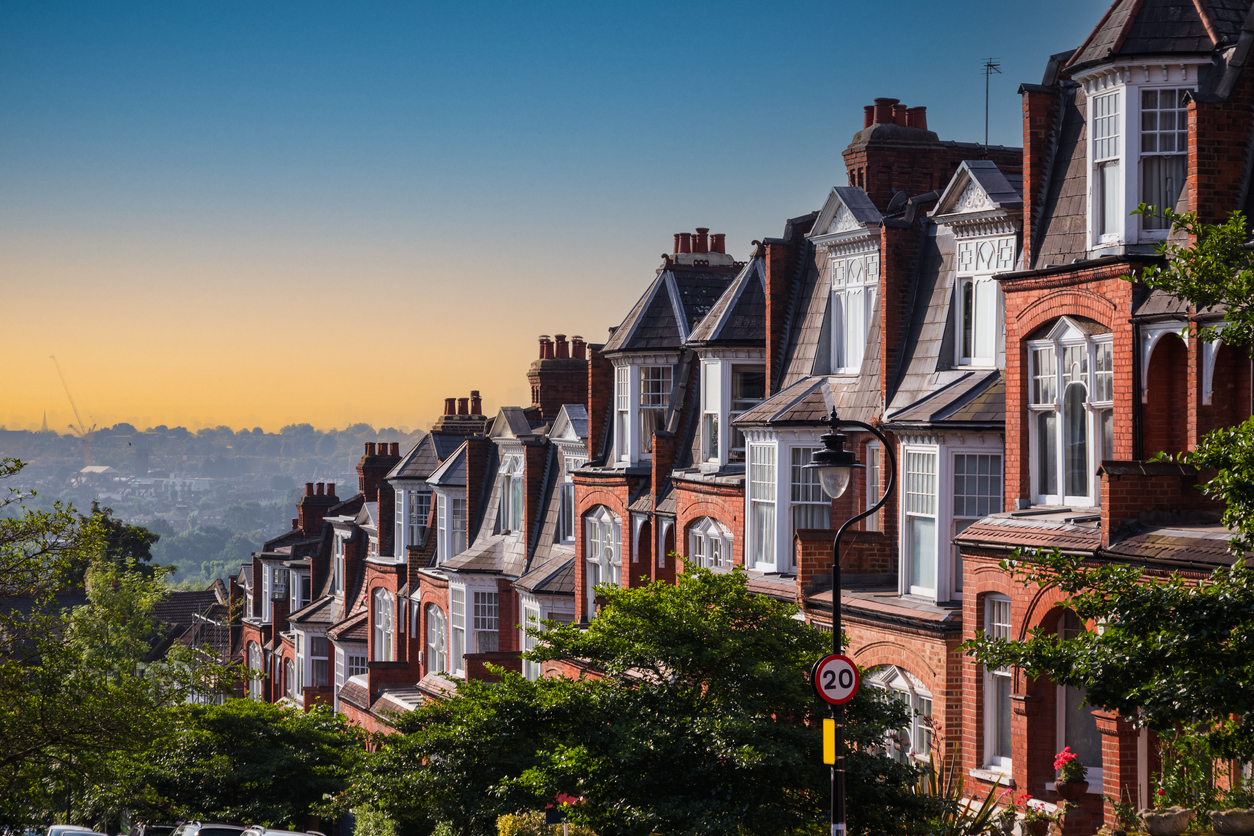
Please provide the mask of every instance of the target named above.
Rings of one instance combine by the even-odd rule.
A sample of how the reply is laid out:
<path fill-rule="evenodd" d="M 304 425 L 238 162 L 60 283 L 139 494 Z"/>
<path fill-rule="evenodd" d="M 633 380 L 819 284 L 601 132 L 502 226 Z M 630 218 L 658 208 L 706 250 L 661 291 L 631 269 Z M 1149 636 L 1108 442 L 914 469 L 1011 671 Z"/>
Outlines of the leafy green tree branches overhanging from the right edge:
<path fill-rule="evenodd" d="M 1141 206 L 1137 212 L 1152 209 Z M 1199 311 L 1221 312 L 1221 326 L 1198 330 L 1203 340 L 1249 346 L 1254 251 L 1245 218 L 1234 212 L 1224 223 L 1206 224 L 1194 213 L 1162 214 L 1174 233 L 1188 233 L 1193 243 L 1161 244 L 1166 261 L 1139 281 L 1189 300 Z M 1179 574 L 1150 579 L 1137 567 L 1092 565 L 1057 551 L 1016 554 L 1003 565 L 1021 583 L 1057 587 L 1067 594 L 1067 607 L 1104 629 L 1066 640 L 1037 629 L 1022 643 L 978 635 L 966 649 L 986 666 L 1014 666 L 1083 688 L 1091 704 L 1157 731 L 1198 726 L 1213 756 L 1250 761 L 1254 570 L 1246 558 L 1254 546 L 1254 419 L 1208 434 L 1195 450 L 1160 457 L 1214 474 L 1200 488 L 1225 505 L 1223 521 L 1234 533 L 1230 568 L 1195 584 Z"/>

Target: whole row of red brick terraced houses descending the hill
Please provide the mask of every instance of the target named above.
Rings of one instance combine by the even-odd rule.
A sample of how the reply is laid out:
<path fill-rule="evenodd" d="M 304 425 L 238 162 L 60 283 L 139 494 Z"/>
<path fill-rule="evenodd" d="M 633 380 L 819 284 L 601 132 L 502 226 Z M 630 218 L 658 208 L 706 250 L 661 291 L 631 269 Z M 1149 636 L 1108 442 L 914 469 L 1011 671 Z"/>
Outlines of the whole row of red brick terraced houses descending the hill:
<path fill-rule="evenodd" d="M 603 342 L 539 338 L 529 405 L 448 399 L 414 449 L 366 444 L 357 485 L 306 485 L 231 582 L 253 696 L 386 729 L 488 663 L 569 676 L 519 658 L 523 627 L 586 623 L 598 584 L 673 580 L 677 555 L 830 630 L 833 528 L 888 466 L 853 434 L 867 468 L 824 496 L 803 465 L 835 409 L 898 461 L 843 546 L 839 602 L 868 681 L 914 711 L 898 756 L 1052 802 L 1070 746 L 1090 790 L 1068 832 L 1114 823 L 1104 795 L 1144 806 L 1150 734 L 956 648 L 1086 628 L 1011 583 L 1020 546 L 1196 577 L 1229 560 L 1196 474 L 1149 459 L 1250 415 L 1249 353 L 1186 332 L 1221 313 L 1125 277 L 1170 234 L 1139 203 L 1249 209 L 1251 44 L 1249 0 L 1117 0 L 1022 85 L 1022 148 L 875 99 L 821 208 L 742 259 L 706 228 L 675 236 Z"/>

